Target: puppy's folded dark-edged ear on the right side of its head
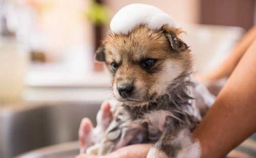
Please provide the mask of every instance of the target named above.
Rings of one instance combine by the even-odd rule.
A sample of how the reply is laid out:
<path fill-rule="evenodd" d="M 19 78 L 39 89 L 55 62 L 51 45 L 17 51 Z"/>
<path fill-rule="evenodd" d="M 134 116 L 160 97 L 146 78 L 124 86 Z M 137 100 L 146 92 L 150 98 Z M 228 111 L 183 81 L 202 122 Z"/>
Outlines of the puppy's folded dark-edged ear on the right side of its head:
<path fill-rule="evenodd" d="M 188 49 L 187 44 L 178 37 L 178 34 L 182 33 L 180 29 L 169 29 L 167 27 L 163 28 L 165 36 L 170 42 L 170 46 L 178 52 L 184 52 Z"/>

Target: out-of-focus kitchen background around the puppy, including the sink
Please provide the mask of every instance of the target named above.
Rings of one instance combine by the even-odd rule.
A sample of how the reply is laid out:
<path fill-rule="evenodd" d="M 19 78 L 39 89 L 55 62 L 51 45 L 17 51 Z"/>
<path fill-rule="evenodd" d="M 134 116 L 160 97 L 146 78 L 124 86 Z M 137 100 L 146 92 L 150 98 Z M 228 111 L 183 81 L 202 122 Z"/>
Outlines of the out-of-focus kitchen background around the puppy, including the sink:
<path fill-rule="evenodd" d="M 81 119 L 95 123 L 100 103 L 113 97 L 94 52 L 113 15 L 132 3 L 173 17 L 200 73 L 223 61 L 256 22 L 254 0 L 0 0 L 1 158 L 78 154 Z M 234 152 L 256 154 L 248 148 Z"/>

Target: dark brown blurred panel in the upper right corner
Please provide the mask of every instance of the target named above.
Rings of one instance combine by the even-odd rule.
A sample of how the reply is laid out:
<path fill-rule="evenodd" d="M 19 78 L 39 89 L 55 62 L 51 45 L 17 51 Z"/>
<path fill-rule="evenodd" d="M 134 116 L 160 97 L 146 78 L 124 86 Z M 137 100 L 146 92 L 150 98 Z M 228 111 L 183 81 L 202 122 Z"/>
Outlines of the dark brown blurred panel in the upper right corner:
<path fill-rule="evenodd" d="M 201 0 L 200 24 L 239 26 L 255 24 L 255 0 Z"/>

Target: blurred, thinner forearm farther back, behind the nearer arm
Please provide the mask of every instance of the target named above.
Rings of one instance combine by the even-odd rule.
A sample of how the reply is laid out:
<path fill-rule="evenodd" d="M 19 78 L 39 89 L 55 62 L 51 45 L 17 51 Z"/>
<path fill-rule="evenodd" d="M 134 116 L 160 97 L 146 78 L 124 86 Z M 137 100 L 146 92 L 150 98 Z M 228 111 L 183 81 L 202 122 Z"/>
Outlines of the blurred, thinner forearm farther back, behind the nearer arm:
<path fill-rule="evenodd" d="M 237 46 L 229 56 L 215 69 L 202 76 L 202 81 L 216 81 L 223 77 L 228 77 L 238 64 L 239 60 L 256 38 L 256 26 L 251 28 L 244 37 L 238 42 Z"/>

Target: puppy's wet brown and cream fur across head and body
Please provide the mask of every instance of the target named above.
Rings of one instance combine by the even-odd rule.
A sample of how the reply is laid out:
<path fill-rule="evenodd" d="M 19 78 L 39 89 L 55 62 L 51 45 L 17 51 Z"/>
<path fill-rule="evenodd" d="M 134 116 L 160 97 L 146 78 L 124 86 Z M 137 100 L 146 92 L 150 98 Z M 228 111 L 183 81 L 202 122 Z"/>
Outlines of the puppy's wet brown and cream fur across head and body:
<path fill-rule="evenodd" d="M 96 142 L 99 155 L 136 143 L 155 143 L 147 157 L 178 157 L 191 150 L 195 141 L 190 132 L 213 99 L 205 87 L 200 89 L 210 102 L 197 91 L 190 50 L 179 38 L 181 32 L 140 25 L 128 35 L 110 33 L 103 41 L 96 60 L 105 62 L 112 74 L 119 103 L 102 140 Z M 121 85 L 131 85 L 129 95 L 120 93 Z"/>

